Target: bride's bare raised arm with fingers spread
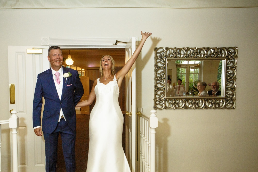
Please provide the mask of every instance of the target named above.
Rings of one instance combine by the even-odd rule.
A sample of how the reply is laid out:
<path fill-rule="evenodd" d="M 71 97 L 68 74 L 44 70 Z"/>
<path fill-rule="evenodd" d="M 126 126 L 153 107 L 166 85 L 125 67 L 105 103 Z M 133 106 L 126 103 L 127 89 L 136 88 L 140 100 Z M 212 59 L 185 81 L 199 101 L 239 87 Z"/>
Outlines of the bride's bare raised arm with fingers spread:
<path fill-rule="evenodd" d="M 122 83 L 123 78 L 128 73 L 128 71 L 131 69 L 135 60 L 138 58 L 138 55 L 140 54 L 146 39 L 151 35 L 151 33 L 149 33 L 149 32 L 143 33 L 141 31 L 141 35 L 142 35 L 142 39 L 141 39 L 138 47 L 134 51 L 132 57 L 125 63 L 124 67 L 116 73 L 116 78 L 117 78 L 118 83 Z"/>

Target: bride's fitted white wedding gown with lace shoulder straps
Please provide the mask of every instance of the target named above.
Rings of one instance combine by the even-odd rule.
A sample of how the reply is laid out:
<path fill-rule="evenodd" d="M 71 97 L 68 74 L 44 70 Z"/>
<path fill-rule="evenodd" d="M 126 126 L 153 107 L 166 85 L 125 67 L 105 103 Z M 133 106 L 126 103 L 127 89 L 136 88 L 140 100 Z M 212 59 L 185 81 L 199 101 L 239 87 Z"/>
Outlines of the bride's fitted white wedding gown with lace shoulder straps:
<path fill-rule="evenodd" d="M 122 147 L 124 117 L 118 103 L 116 76 L 107 85 L 97 79 L 95 94 L 87 172 L 131 172 Z"/>

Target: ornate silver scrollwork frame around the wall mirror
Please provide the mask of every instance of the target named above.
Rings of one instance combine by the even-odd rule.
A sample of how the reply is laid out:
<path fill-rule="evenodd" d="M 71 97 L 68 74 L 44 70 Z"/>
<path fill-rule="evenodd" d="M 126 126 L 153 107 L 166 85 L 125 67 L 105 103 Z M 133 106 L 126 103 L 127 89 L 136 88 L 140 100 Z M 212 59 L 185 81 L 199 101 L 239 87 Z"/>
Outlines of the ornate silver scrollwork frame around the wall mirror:
<path fill-rule="evenodd" d="M 237 47 L 155 49 L 154 109 L 235 109 Z M 166 96 L 167 60 L 222 60 L 221 96 Z"/>

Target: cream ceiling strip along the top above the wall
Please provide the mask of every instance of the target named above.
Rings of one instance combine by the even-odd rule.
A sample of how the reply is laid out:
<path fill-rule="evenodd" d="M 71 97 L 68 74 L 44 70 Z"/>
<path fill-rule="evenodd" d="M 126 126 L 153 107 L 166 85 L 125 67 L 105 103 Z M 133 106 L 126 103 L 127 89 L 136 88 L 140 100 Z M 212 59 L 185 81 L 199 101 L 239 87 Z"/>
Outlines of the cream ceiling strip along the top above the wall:
<path fill-rule="evenodd" d="M 0 0 L 0 9 L 21 8 L 235 8 L 258 0 Z"/>

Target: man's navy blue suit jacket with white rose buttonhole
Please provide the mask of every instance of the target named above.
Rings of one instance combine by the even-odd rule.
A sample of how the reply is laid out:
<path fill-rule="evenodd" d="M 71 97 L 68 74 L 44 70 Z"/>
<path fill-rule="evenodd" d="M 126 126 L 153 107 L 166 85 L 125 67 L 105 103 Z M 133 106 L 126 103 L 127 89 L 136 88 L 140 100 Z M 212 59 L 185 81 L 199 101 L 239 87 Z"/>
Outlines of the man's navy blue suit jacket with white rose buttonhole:
<path fill-rule="evenodd" d="M 70 68 L 63 68 L 63 73 L 70 72 L 72 76 L 63 78 L 63 90 L 61 100 L 59 99 L 55 87 L 51 69 L 38 74 L 33 100 L 33 127 L 41 126 L 41 107 L 42 96 L 45 99 L 42 131 L 53 133 L 58 124 L 60 109 L 66 118 L 66 121 L 72 130 L 76 129 L 75 105 L 82 97 L 83 85 L 80 81 L 78 72 Z"/>

